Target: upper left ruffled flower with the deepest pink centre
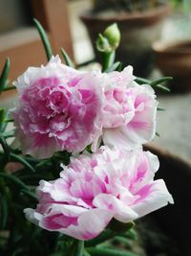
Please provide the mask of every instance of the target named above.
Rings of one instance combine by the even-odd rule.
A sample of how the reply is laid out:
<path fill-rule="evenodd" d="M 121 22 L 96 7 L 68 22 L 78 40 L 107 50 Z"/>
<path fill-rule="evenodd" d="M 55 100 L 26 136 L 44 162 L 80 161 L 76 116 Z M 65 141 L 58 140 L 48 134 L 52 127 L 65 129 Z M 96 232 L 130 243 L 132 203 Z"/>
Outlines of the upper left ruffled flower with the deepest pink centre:
<path fill-rule="evenodd" d="M 95 141 L 101 131 L 100 82 L 58 57 L 29 68 L 14 83 L 19 100 L 12 116 L 21 150 L 46 158 L 55 151 L 83 151 Z"/>

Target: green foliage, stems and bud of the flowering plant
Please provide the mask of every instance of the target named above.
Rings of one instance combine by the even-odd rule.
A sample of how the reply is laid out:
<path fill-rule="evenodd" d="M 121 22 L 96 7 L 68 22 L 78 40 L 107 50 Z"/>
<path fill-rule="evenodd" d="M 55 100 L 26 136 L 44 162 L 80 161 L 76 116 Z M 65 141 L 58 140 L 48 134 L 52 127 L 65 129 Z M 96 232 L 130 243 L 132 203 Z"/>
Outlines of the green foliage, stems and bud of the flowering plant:
<path fill-rule="evenodd" d="M 38 21 L 34 20 L 36 28 L 42 38 L 48 60 L 52 56 L 52 48 L 48 37 Z M 117 24 L 107 28 L 99 36 L 98 46 L 103 58 L 102 69 L 111 72 L 121 69 L 120 62 L 115 61 L 115 51 L 119 43 L 120 34 Z M 102 40 L 102 41 L 101 41 Z M 104 44 L 105 43 L 105 44 Z M 72 60 L 62 49 L 66 64 L 73 65 Z M 0 93 L 13 89 L 8 84 L 10 59 L 5 62 L 0 74 Z M 161 78 L 157 81 L 146 81 L 137 78 L 138 84 L 145 82 L 154 88 L 171 78 Z M 162 110 L 159 109 L 158 110 Z M 137 243 L 137 235 L 133 230 L 134 222 L 119 224 L 111 221 L 108 228 L 95 239 L 83 242 L 58 232 L 49 232 L 24 218 L 23 210 L 34 207 L 37 198 L 35 188 L 40 179 L 53 180 L 59 177 L 62 170 L 60 164 L 68 165 L 70 152 L 57 151 L 52 157 L 40 160 L 32 155 L 23 155 L 18 148 L 13 149 L 8 139 L 14 138 L 14 130 L 7 130 L 8 124 L 13 122 L 9 118 L 9 111 L 0 108 L 0 255 L 6 256 L 88 256 L 88 255 L 121 255 L 136 256 L 130 252 L 132 242 Z M 90 149 L 87 149 L 90 151 Z M 9 164 L 13 163 L 14 170 L 9 171 Z"/>

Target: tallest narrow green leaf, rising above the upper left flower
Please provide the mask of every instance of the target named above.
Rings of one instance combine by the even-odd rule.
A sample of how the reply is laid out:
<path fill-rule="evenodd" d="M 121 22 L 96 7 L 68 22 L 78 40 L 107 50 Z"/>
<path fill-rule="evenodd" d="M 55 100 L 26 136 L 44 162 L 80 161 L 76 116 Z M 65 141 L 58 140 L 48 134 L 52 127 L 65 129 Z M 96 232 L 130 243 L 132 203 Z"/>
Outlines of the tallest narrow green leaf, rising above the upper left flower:
<path fill-rule="evenodd" d="M 41 37 L 41 40 L 43 42 L 44 48 L 45 48 L 45 52 L 47 55 L 47 59 L 50 60 L 53 56 L 53 51 L 52 51 L 52 47 L 51 47 L 51 43 L 48 39 L 48 36 L 45 33 L 45 30 L 43 29 L 42 25 L 40 24 L 40 22 L 37 19 L 33 19 L 33 22 L 38 30 L 38 33 Z"/>

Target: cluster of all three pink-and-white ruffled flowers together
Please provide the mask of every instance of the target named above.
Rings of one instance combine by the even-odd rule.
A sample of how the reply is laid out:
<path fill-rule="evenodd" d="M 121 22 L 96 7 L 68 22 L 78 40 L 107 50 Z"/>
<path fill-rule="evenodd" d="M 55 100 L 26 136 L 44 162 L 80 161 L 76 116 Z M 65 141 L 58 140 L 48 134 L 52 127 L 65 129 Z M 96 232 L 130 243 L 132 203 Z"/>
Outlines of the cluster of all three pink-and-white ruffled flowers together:
<path fill-rule="evenodd" d="M 30 221 L 90 240 L 112 219 L 134 221 L 173 203 L 164 181 L 154 180 L 158 157 L 142 150 L 156 133 L 156 95 L 138 85 L 131 66 L 81 72 L 53 57 L 14 84 L 21 150 L 42 159 L 72 153 L 59 178 L 40 181 L 36 209 L 25 209 Z"/>

